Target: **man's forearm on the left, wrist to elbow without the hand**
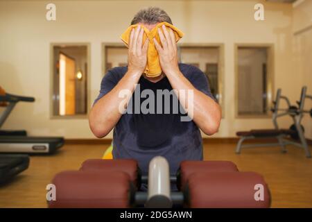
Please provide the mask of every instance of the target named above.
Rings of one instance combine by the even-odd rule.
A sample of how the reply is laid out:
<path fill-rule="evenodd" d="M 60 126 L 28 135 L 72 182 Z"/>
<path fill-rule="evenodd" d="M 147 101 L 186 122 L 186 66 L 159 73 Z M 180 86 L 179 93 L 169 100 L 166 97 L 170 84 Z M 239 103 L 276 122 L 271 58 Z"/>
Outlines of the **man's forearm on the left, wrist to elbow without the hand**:
<path fill-rule="evenodd" d="M 140 76 L 139 72 L 127 71 L 119 83 L 94 104 L 89 114 L 89 126 L 96 137 L 105 137 L 114 128 L 122 115 L 119 105 L 125 101 L 125 98 L 119 96 L 119 92 L 130 90 L 133 93 Z M 130 97 L 128 101 L 129 99 Z"/>

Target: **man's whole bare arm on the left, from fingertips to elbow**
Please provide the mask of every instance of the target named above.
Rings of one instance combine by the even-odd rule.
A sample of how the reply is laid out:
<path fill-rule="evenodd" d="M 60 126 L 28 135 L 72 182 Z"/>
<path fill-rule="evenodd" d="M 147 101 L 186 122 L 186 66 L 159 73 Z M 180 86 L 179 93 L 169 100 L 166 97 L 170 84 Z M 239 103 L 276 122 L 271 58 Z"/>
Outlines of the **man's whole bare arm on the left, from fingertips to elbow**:
<path fill-rule="evenodd" d="M 135 84 L 139 82 L 139 78 L 146 67 L 148 40 L 142 46 L 143 33 L 144 29 L 141 26 L 138 26 L 136 30 L 132 29 L 128 50 L 127 73 L 110 92 L 94 104 L 90 111 L 89 127 L 98 138 L 105 137 L 110 133 L 110 130 L 121 118 L 122 112 L 119 110 L 119 105 L 125 99 L 119 97 L 119 92 L 128 90 L 133 93 Z M 130 96 L 127 99 L 129 101 Z"/>

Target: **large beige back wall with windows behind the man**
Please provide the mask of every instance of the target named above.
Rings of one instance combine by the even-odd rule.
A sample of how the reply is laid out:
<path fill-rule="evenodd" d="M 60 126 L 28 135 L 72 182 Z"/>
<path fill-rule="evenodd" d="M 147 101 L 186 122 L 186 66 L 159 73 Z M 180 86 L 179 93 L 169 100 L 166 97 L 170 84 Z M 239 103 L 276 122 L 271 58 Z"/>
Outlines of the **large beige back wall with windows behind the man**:
<path fill-rule="evenodd" d="M 181 43 L 224 43 L 224 119 L 215 137 L 234 137 L 237 130 L 270 128 L 270 119 L 236 119 L 234 109 L 234 44 L 275 45 L 275 89 L 281 87 L 295 101 L 301 81 L 292 71 L 292 6 L 267 3 L 265 21 L 254 20 L 259 1 L 53 1 L 57 20 L 46 21 L 50 1 L 0 1 L 0 84 L 8 92 L 35 96 L 33 104 L 17 105 L 4 128 L 30 135 L 94 138 L 87 119 L 50 119 L 51 42 L 89 42 L 89 107 L 98 95 L 103 77 L 102 42 L 121 42 L 137 10 L 161 6 L 185 36 Z M 303 79 L 302 79 L 303 80 Z M 281 126 L 289 126 L 287 119 Z M 112 137 L 112 133 L 107 137 Z"/>

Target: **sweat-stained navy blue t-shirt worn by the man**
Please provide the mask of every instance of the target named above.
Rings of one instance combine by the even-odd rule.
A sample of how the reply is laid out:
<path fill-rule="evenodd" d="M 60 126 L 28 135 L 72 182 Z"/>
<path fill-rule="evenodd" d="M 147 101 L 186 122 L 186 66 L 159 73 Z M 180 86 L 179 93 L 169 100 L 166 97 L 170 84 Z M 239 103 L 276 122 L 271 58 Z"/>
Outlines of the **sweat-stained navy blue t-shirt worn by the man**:
<path fill-rule="evenodd" d="M 182 63 L 179 64 L 179 68 L 196 89 L 214 99 L 209 89 L 207 77 L 200 69 Z M 123 78 L 127 69 L 128 67 L 114 67 L 107 71 L 101 82 L 100 94 L 94 103 L 114 88 Z M 172 89 L 166 77 L 157 83 L 152 83 L 141 76 L 138 84 L 140 92 L 144 89 L 150 89 L 154 93 L 157 92 L 157 89 L 168 89 L 169 91 Z M 132 110 L 135 106 L 136 93 L 137 90 L 132 94 Z M 148 96 L 146 97 L 148 98 Z M 142 103 L 147 98 L 140 98 L 140 102 Z M 171 99 L 171 109 L 172 103 Z M 156 103 L 155 106 L 157 106 Z M 144 175 L 148 173 L 148 163 L 157 155 L 168 160 L 172 175 L 175 175 L 182 160 L 202 160 L 200 130 L 193 121 L 181 121 L 180 117 L 185 115 L 183 112 L 170 112 L 170 114 L 164 112 L 162 114 L 158 114 L 158 112 L 155 114 L 128 112 L 123 114 L 114 127 L 112 151 L 114 159 L 137 160 Z"/>

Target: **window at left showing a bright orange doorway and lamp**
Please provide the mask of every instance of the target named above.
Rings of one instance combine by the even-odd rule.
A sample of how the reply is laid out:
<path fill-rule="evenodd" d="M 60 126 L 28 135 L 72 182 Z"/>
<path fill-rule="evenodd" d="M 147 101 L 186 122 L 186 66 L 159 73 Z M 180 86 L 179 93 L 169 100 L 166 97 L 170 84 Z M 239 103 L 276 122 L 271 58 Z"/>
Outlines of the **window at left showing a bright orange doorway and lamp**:
<path fill-rule="evenodd" d="M 87 45 L 52 45 L 54 117 L 87 114 Z"/>

